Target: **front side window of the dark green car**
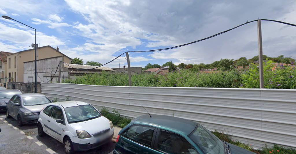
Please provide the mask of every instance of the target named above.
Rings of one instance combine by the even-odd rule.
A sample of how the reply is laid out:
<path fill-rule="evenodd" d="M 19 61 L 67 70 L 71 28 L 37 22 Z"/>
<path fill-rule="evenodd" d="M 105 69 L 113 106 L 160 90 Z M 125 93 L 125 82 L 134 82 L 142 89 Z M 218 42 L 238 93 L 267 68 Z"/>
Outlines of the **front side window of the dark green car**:
<path fill-rule="evenodd" d="M 184 137 L 165 130 L 160 130 L 157 150 L 169 154 L 198 154 Z"/>

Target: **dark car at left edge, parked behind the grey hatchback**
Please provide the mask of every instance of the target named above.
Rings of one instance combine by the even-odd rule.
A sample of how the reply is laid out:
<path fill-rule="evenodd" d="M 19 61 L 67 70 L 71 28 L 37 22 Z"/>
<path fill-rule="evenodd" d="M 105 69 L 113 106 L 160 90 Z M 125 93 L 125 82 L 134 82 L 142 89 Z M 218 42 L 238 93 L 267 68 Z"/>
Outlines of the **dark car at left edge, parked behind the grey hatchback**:
<path fill-rule="evenodd" d="M 17 89 L 0 90 L 0 112 L 6 112 L 7 103 L 15 94 L 22 94 L 22 92 Z"/>

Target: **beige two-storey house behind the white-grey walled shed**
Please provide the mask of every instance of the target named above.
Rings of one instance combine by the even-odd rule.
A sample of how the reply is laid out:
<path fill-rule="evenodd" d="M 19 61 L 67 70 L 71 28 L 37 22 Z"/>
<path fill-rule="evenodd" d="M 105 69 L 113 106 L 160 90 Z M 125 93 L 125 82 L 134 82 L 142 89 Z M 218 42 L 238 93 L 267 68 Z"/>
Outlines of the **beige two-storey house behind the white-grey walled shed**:
<path fill-rule="evenodd" d="M 47 45 L 44 47 L 37 48 L 37 60 L 63 56 L 63 61 L 65 63 L 70 63 L 71 58 L 59 52 L 59 48 L 57 49 Z M 13 53 L 7 55 L 7 78 L 9 78 L 8 82 L 24 82 L 24 63 L 28 61 L 35 60 L 35 49 L 29 49 L 20 51 L 17 53 Z M 40 67 L 44 67 L 43 65 L 37 65 L 37 70 Z M 34 68 L 32 68 L 34 69 Z M 41 68 L 42 69 L 42 68 Z M 33 76 L 33 81 L 34 81 Z"/>

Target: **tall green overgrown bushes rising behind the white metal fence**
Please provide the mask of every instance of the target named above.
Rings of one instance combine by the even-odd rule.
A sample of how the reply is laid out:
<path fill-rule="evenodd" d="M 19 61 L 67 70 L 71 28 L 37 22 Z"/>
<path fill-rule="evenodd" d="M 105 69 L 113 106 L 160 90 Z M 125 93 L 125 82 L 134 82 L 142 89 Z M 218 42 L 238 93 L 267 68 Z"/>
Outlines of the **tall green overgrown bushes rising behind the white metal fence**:
<path fill-rule="evenodd" d="M 264 87 L 296 89 L 296 71 L 291 65 L 275 68 L 274 62 L 264 63 Z M 229 71 L 202 73 L 193 68 L 172 71 L 167 74 L 138 74 L 132 76 L 132 86 L 163 87 L 213 87 L 213 88 L 259 88 L 258 65 L 251 64 L 249 69 L 233 68 Z M 75 79 L 65 79 L 63 83 L 76 83 L 102 86 L 128 86 L 128 75 L 87 74 Z"/>

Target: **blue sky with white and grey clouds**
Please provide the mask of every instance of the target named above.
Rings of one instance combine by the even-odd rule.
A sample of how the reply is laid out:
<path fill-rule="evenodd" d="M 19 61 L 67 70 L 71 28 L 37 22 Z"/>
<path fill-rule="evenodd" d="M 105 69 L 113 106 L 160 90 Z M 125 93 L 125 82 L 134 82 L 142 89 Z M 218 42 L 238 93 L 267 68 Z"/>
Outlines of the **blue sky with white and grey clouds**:
<path fill-rule="evenodd" d="M 296 1 L 170 0 L 1 0 L 0 14 L 37 29 L 39 46 L 59 46 L 84 62 L 106 63 L 130 50 L 151 50 L 199 40 L 247 20 L 275 19 L 296 23 Z M 263 54 L 296 58 L 296 27 L 262 21 Z M 30 49 L 34 31 L 0 19 L 0 50 Z M 130 53 L 132 66 L 147 63 L 212 63 L 221 58 L 258 55 L 257 24 L 202 42 L 155 53 Z M 122 56 L 109 67 L 126 65 Z"/>

